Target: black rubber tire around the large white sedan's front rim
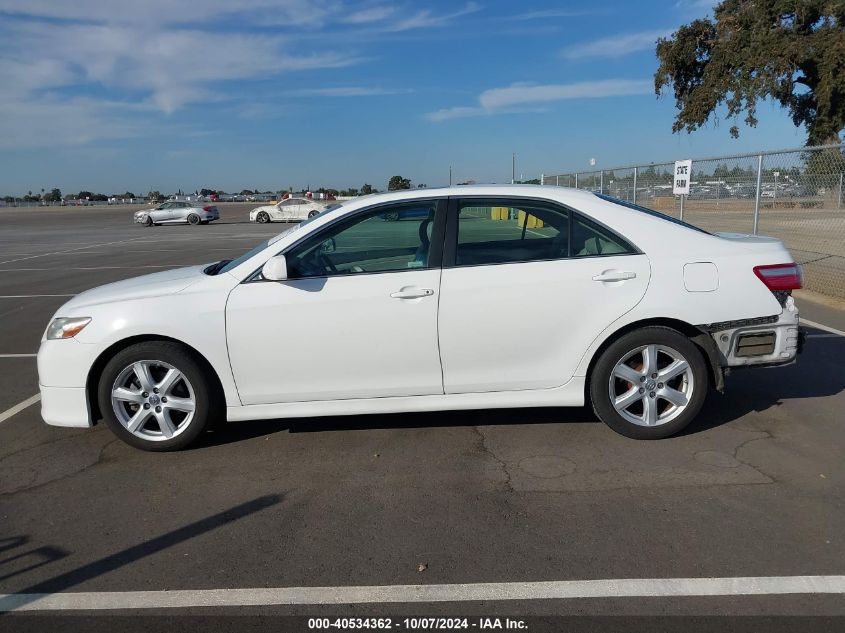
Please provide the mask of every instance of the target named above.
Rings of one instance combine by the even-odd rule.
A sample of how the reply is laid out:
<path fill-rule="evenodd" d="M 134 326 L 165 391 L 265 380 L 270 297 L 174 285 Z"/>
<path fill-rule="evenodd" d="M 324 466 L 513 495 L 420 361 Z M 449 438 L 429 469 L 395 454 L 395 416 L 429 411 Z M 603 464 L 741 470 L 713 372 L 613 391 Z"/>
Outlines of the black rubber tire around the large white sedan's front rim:
<path fill-rule="evenodd" d="M 118 420 L 112 407 L 111 395 L 115 381 L 124 370 L 137 361 L 167 363 L 182 372 L 193 389 L 195 402 L 193 417 L 190 421 L 185 422 L 187 426 L 184 428 L 178 427 L 178 434 L 174 434 L 170 439 L 145 439 L 133 434 Z M 112 433 L 130 446 L 145 451 L 160 452 L 183 449 L 194 442 L 204 430 L 216 426 L 225 412 L 223 396 L 216 388 L 215 382 L 210 379 L 203 364 L 184 346 L 169 341 L 137 343 L 115 354 L 103 368 L 97 389 L 97 398 L 103 419 Z M 154 420 L 151 420 L 150 426 L 153 428 L 149 431 L 155 434 L 157 424 Z"/>

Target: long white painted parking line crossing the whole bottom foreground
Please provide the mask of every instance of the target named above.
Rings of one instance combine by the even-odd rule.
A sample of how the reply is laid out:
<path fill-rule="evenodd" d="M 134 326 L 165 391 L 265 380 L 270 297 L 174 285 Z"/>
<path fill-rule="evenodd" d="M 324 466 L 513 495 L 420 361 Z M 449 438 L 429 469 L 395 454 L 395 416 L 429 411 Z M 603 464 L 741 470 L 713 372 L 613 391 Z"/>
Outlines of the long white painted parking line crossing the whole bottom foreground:
<path fill-rule="evenodd" d="M 0 612 L 843 593 L 845 576 L 636 578 L 454 585 L 0 594 Z"/>

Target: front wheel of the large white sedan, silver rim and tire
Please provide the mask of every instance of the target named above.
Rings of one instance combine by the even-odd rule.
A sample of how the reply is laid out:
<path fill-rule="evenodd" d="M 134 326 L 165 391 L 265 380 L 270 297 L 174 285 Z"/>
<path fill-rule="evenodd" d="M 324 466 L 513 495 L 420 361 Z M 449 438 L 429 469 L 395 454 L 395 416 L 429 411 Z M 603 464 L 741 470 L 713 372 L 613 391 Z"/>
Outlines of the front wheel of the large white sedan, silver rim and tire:
<path fill-rule="evenodd" d="M 147 451 L 188 446 L 223 411 L 206 370 L 184 347 L 167 341 L 118 352 L 103 369 L 98 400 L 112 432 Z"/>

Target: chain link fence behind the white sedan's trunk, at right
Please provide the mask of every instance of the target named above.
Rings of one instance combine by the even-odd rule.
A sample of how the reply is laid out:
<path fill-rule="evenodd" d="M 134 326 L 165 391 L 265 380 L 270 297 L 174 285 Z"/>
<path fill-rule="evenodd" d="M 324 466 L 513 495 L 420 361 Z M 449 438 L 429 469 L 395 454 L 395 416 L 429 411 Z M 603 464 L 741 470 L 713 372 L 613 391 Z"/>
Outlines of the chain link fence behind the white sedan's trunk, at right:
<path fill-rule="evenodd" d="M 804 270 L 804 286 L 845 298 L 845 145 L 693 160 L 690 193 L 672 194 L 674 162 L 542 175 L 635 202 L 708 231 L 777 237 Z"/>

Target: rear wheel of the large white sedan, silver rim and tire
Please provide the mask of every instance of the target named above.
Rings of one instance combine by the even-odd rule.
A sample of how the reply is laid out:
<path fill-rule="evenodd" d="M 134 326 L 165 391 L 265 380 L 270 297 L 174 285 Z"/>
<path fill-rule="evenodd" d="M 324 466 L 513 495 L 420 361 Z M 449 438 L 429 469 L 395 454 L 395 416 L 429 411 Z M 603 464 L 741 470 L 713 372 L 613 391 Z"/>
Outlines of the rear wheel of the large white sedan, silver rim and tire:
<path fill-rule="evenodd" d="M 686 336 L 644 327 L 614 341 L 590 379 L 596 415 L 617 433 L 660 439 L 681 431 L 707 397 L 707 363 Z"/>

